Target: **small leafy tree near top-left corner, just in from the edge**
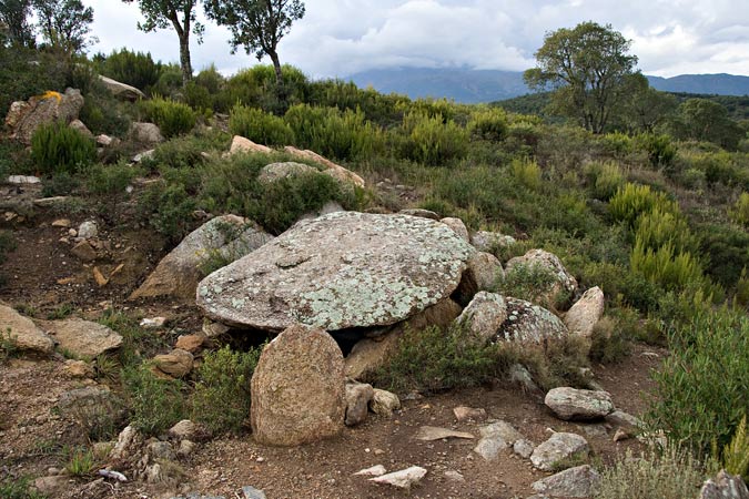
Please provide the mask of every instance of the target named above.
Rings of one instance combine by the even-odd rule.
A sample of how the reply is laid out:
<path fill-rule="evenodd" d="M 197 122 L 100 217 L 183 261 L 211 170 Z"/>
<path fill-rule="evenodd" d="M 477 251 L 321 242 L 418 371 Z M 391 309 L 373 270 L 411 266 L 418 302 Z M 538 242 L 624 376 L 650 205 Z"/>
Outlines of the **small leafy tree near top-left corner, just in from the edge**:
<path fill-rule="evenodd" d="M 89 37 L 93 9 L 81 0 L 33 0 L 38 26 L 47 44 L 68 58 L 95 42 Z"/>

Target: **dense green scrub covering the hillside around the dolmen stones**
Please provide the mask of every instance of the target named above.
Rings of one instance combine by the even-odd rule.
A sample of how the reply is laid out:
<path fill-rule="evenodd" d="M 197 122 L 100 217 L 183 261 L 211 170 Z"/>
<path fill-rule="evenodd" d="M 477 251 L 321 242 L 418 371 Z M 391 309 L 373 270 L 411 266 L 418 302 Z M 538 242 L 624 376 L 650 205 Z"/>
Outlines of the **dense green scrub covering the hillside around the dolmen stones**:
<path fill-rule="evenodd" d="M 553 110 L 540 116 L 499 105 L 414 101 L 340 80 L 313 81 L 287 65 L 282 82 L 272 67 L 257 65 L 231 77 L 206 68 L 183 85 L 180 67 L 126 49 L 69 65 L 34 49 L 0 45 L 0 115 L 12 101 L 73 86 L 84 94 L 81 120 L 93 134 L 121 139 L 98 155 L 79 132 L 44 126 L 30 151 L 0 142 L 2 174 L 38 174 L 47 195 L 75 194 L 104 220 L 117 220 L 119 205 L 134 204 L 133 216 L 172 244 L 195 227 L 198 210 L 246 216 L 280 234 L 333 200 L 358 211 L 422 207 L 459 217 L 472 231 L 513 235 L 517 244 L 495 248 L 503 262 L 535 247 L 555 253 L 581 288 L 605 292 L 594 361 L 616 363 L 631 342 L 670 352 L 654 373 L 657 390 L 646 415 L 649 431 L 662 432 L 670 449 L 638 469 L 623 461 L 607 471 L 610 481 L 672 468 L 679 480 L 691 476 L 691 467 L 699 479 L 720 467 L 747 478 L 749 123 L 732 119 L 719 102 L 679 103 L 646 90 L 594 134 Z M 117 101 L 97 73 L 150 99 Z M 646 98 L 652 99 L 646 108 L 636 105 Z M 657 113 L 644 115 L 652 109 Z M 154 122 L 169 139 L 136 165 L 131 156 L 139 144 L 128 135 L 133 121 Z M 224 157 L 234 134 L 313 150 L 360 173 L 370 187 L 346 190 L 320 175 L 261 186 L 260 169 L 287 156 L 280 150 Z M 155 182 L 131 193 L 126 187 L 136 177 Z M 411 187 L 411 198 L 396 195 L 389 189 L 395 185 Z M 0 249 L 12 247 L 10 232 L 0 241 Z M 496 283 L 519 298 L 549 285 L 543 273 L 522 271 Z M 545 305 L 565 309 L 573 298 Z M 237 380 L 251 376 L 259 350 L 211 354 L 188 390 L 143 368 L 141 355 L 153 339 L 132 318 L 112 312 L 105 322 L 124 335 L 125 347 L 99 363 L 100 376 L 121 383 L 140 429 L 158 434 L 192 413 L 215 431 L 242 431 L 249 398 Z M 465 347 L 459 335 L 431 328 L 409 336 L 376 380 L 397 389 L 460 388 L 500 376 L 522 358 L 545 387 L 585 383 L 577 368 L 590 360 L 574 344 L 543 359 L 523 358 L 500 346 Z M 3 343 L 0 352 L 9 356 L 12 347 Z M 219 410 L 225 400 L 234 406 Z"/>

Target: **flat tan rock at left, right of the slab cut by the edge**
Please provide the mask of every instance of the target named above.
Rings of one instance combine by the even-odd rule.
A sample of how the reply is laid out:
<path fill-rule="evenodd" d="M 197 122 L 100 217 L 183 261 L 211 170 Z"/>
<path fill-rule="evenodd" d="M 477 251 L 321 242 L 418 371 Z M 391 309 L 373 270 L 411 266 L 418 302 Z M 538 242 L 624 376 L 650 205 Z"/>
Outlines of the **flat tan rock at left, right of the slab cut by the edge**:
<path fill-rule="evenodd" d="M 77 357 L 93 358 L 122 345 L 122 336 L 109 327 L 81 318 L 40 320 L 40 325 L 60 344 L 61 349 Z"/>

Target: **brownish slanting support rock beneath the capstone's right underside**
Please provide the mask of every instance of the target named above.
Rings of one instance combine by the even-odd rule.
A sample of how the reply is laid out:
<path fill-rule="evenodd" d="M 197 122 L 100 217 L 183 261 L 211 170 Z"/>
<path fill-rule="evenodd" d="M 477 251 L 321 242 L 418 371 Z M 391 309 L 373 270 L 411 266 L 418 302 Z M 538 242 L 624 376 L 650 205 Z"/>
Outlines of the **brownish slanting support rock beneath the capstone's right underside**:
<path fill-rule="evenodd" d="M 443 299 L 426 310 L 376 337 L 364 338 L 354 345 L 346 356 L 346 376 L 360 379 L 382 367 L 396 350 L 398 340 L 409 330 L 419 330 L 427 326 L 447 326 L 460 314 L 460 306 L 452 299 Z"/>

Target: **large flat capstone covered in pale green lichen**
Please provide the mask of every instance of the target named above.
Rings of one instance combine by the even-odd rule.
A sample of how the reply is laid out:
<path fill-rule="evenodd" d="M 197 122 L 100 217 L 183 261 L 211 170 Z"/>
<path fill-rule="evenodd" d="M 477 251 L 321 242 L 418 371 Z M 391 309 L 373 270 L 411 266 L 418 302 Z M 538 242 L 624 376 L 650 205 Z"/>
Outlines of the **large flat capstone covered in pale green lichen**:
<path fill-rule="evenodd" d="M 239 327 L 385 326 L 449 296 L 473 252 L 439 222 L 336 212 L 302 221 L 209 275 L 196 301 Z"/>

